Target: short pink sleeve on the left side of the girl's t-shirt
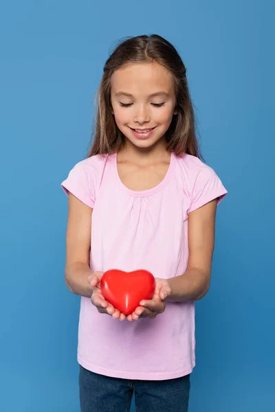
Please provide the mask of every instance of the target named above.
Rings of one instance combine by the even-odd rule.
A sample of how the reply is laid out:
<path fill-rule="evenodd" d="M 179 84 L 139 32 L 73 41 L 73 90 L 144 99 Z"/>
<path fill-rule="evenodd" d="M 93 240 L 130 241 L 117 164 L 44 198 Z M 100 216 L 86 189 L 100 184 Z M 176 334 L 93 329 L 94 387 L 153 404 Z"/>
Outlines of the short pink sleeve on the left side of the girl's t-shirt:
<path fill-rule="evenodd" d="M 69 172 L 67 179 L 61 183 L 65 194 L 74 194 L 85 205 L 94 208 L 95 203 L 95 182 L 94 170 L 83 161 L 76 163 Z"/>

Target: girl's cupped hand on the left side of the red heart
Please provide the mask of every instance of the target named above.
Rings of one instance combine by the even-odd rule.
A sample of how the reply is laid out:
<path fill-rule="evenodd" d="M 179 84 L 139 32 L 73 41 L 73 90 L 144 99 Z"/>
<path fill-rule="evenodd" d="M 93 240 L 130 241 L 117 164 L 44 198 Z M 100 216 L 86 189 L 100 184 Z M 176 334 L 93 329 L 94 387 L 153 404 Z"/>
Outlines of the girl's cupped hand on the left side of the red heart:
<path fill-rule="evenodd" d="M 113 319 L 120 319 L 124 321 L 125 315 L 121 313 L 118 309 L 115 309 L 113 305 L 109 304 L 107 300 L 103 297 L 100 289 L 100 280 L 102 278 L 103 272 L 91 273 L 88 277 L 90 286 L 93 288 L 93 293 L 91 295 L 91 303 L 96 306 L 98 312 L 109 314 Z"/>

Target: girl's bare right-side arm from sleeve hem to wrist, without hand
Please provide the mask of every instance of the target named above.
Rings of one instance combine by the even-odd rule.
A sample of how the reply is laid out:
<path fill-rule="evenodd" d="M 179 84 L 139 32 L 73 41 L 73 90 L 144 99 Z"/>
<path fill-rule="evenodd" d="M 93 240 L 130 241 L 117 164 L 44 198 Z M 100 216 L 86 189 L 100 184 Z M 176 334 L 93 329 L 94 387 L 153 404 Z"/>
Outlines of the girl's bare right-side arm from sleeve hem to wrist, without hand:
<path fill-rule="evenodd" d="M 217 199 L 189 214 L 187 270 L 168 279 L 170 301 L 195 301 L 208 292 L 214 251 L 214 226 Z"/>

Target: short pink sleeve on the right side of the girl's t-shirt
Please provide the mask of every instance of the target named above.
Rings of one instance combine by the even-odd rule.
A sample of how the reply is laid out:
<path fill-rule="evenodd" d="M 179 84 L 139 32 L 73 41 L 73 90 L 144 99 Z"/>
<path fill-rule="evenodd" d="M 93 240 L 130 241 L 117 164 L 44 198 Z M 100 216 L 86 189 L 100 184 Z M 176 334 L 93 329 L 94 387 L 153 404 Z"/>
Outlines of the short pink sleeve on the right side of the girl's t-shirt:
<path fill-rule="evenodd" d="M 221 183 L 221 179 L 209 166 L 203 168 L 197 175 L 192 190 L 189 213 L 199 207 L 206 205 L 214 199 L 218 199 L 217 205 L 225 198 L 228 191 Z"/>

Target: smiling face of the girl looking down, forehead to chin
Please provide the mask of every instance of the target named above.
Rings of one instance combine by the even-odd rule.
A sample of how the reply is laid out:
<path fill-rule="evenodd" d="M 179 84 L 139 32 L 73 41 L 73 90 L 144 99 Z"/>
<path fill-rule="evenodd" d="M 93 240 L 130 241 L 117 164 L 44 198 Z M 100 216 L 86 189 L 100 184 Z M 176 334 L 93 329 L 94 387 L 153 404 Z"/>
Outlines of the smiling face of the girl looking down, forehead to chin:
<path fill-rule="evenodd" d="M 176 98 L 170 73 L 158 63 L 126 65 L 111 78 L 111 105 L 118 128 L 139 148 L 165 141 Z"/>

